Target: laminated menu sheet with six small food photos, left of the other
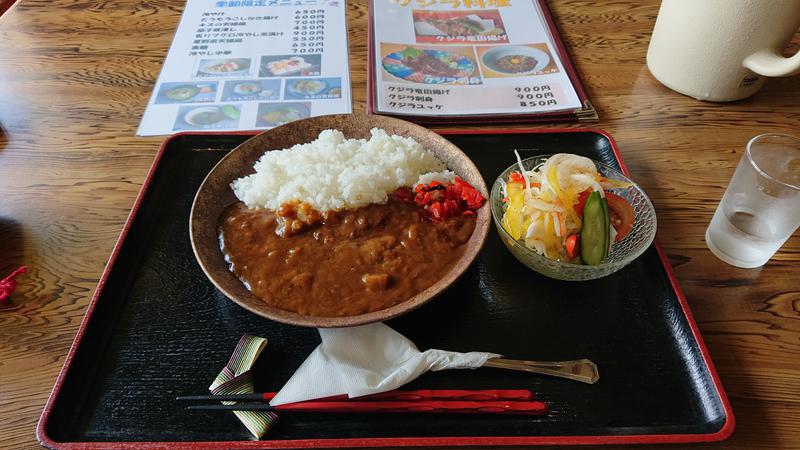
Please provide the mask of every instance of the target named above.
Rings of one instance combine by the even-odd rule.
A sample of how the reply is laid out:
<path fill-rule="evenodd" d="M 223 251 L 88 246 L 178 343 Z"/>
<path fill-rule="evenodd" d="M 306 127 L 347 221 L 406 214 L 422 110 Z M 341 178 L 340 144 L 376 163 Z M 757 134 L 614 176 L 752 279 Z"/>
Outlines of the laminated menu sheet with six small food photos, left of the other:
<path fill-rule="evenodd" d="M 352 112 L 344 0 L 189 0 L 137 134 Z"/>

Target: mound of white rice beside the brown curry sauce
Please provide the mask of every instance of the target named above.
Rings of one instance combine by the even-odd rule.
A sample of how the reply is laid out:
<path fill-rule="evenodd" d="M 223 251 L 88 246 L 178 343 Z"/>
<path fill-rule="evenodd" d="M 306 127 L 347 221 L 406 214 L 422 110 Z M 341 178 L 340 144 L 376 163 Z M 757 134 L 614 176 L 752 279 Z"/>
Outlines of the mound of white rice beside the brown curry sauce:
<path fill-rule="evenodd" d="M 299 200 L 328 211 L 385 203 L 399 187 L 454 176 L 413 138 L 379 128 L 370 133 L 369 140 L 345 139 L 339 130 L 325 130 L 307 144 L 268 151 L 256 162 L 256 173 L 231 188 L 248 208 L 275 210 Z"/>

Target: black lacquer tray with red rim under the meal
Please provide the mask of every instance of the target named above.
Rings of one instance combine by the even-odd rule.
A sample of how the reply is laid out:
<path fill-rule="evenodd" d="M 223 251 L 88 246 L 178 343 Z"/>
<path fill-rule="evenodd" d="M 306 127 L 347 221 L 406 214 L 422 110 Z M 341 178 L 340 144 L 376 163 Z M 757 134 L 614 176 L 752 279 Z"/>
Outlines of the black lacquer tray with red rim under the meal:
<path fill-rule="evenodd" d="M 514 161 L 570 152 L 625 169 L 593 130 L 443 133 L 487 185 Z M 53 448 L 255 448 L 538 445 L 717 441 L 733 413 L 669 264 L 656 244 L 599 280 L 530 271 L 492 229 L 476 263 L 445 294 L 388 324 L 420 349 L 597 363 L 595 385 L 499 369 L 427 373 L 407 388 L 533 390 L 541 417 L 283 414 L 253 441 L 230 413 L 172 401 L 202 394 L 244 333 L 269 338 L 256 389 L 275 391 L 319 343 L 314 329 L 250 314 L 216 291 L 189 244 L 201 181 L 249 134 L 182 134 L 164 143 L 45 407 Z M 632 174 L 636 179 L 636 174 Z M 432 420 L 435 419 L 435 420 Z"/>

